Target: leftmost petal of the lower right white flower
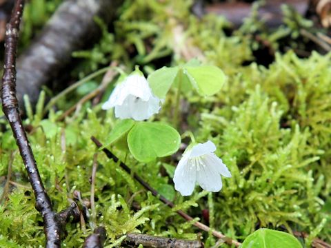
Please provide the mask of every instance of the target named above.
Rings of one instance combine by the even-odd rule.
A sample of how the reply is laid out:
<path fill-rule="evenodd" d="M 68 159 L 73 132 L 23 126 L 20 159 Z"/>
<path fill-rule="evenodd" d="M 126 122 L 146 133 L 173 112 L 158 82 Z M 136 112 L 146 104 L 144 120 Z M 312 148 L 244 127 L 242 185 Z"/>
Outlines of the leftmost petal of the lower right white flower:
<path fill-rule="evenodd" d="M 194 190 L 197 169 L 189 161 L 190 152 L 183 155 L 174 171 L 174 188 L 182 196 L 190 196 Z"/>

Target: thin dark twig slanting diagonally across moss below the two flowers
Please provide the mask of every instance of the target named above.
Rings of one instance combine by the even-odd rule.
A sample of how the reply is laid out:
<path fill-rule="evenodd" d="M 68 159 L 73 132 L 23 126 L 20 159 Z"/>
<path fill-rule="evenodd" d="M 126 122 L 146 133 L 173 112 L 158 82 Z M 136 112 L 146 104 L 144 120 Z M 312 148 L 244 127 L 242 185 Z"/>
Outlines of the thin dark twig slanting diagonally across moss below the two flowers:
<path fill-rule="evenodd" d="M 100 147 L 103 146 L 100 143 L 100 141 L 98 141 L 97 138 L 95 138 L 94 136 L 92 136 L 91 139 L 95 143 L 95 145 L 97 145 L 97 147 L 100 148 Z M 117 158 L 117 156 L 112 154 L 112 152 L 110 152 L 109 149 L 103 148 L 102 150 L 106 154 L 106 156 L 108 156 L 108 158 L 112 158 L 112 160 L 114 160 L 115 163 L 117 161 L 119 161 L 119 158 Z M 131 169 L 126 164 L 121 162 L 121 163 L 119 163 L 119 165 L 122 167 L 122 169 L 124 169 L 126 172 L 128 172 L 128 174 L 131 174 Z M 157 192 L 156 189 L 152 188 L 148 183 L 146 183 L 143 180 L 143 178 L 138 176 L 136 173 L 133 174 L 133 177 L 141 185 L 143 185 L 143 187 L 148 189 L 148 191 L 152 192 L 153 196 L 157 196 L 159 198 L 159 200 L 161 200 L 161 202 L 165 203 L 165 205 L 168 205 L 169 207 L 174 207 L 174 203 L 172 203 L 170 200 L 168 200 L 167 198 L 165 198 L 164 196 L 159 194 L 159 192 Z M 188 221 L 193 220 L 193 218 L 191 216 L 189 216 L 188 214 L 186 214 L 184 211 L 177 210 L 176 212 L 181 217 L 183 217 L 185 220 L 188 220 Z M 237 247 L 239 247 L 241 245 L 241 243 L 238 242 L 237 240 L 232 240 L 231 238 L 226 237 L 224 234 L 221 234 L 219 231 L 215 231 L 215 230 L 210 229 L 210 227 L 208 227 L 207 225 L 204 225 L 203 223 L 200 223 L 199 221 L 195 222 L 193 225 L 195 225 L 196 227 L 198 227 L 199 229 L 201 229 L 203 231 L 211 231 L 212 235 L 214 235 L 216 238 L 221 238 L 221 239 L 225 240 L 225 242 L 227 242 L 229 245 L 235 245 Z"/>

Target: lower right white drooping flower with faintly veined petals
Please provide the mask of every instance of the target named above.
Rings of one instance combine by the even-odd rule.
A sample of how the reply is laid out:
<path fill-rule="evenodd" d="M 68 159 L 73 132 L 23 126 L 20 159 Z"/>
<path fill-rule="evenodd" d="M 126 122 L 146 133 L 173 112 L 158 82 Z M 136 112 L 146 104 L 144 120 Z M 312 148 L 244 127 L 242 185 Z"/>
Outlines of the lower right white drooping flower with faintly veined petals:
<path fill-rule="evenodd" d="M 196 182 L 209 192 L 219 192 L 221 175 L 231 177 L 228 167 L 214 154 L 215 150 L 214 143 L 208 141 L 184 152 L 174 172 L 174 188 L 182 196 L 190 196 Z"/>

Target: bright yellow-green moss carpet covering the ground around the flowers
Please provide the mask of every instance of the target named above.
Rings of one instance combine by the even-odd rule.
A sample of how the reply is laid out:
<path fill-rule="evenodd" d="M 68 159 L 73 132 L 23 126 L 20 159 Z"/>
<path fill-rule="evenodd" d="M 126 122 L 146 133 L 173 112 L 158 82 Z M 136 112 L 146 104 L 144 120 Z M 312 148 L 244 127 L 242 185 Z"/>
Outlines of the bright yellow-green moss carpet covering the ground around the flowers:
<path fill-rule="evenodd" d="M 312 52 L 302 59 L 291 49 L 281 51 L 280 40 L 297 39 L 289 21 L 268 32 L 253 16 L 240 30 L 227 35 L 224 30 L 229 24 L 223 18 L 198 19 L 190 14 L 191 5 L 192 1 L 126 1 L 112 32 L 98 21 L 103 27 L 101 41 L 91 50 L 74 53 L 84 59 L 72 74 L 86 76 L 113 60 L 128 72 L 138 64 L 148 73 L 163 65 L 184 63 L 190 54 L 219 66 L 228 75 L 219 94 L 208 98 L 195 92 L 183 94 L 179 132 L 190 130 L 199 142 L 213 141 L 232 178 L 223 180 L 223 189 L 217 194 L 196 187 L 192 196 L 184 198 L 174 192 L 171 180 L 179 157 L 142 164 L 116 147 L 111 147 L 112 152 L 173 200 L 176 209 L 187 211 L 226 236 L 243 240 L 259 227 L 270 227 L 305 231 L 310 236 L 301 242 L 307 247 L 317 236 L 331 242 L 331 54 Z M 30 20 L 36 28 L 33 23 L 37 17 L 29 18 L 25 23 Z M 30 37 L 25 27 L 23 37 Z M 261 32 L 275 50 L 279 49 L 268 67 L 254 62 L 250 31 Z M 89 178 L 94 154 L 98 153 L 97 223 L 86 223 L 85 229 L 80 224 L 68 224 L 63 246 L 79 247 L 95 224 L 106 227 L 108 247 L 118 246 L 122 236 L 132 231 L 197 239 L 199 229 L 146 192 L 90 141 L 92 135 L 106 141 L 115 121 L 111 111 L 101 110 L 101 104 L 86 103 L 74 117 L 57 121 L 70 104 L 100 81 L 97 78 L 85 89 L 80 87 L 70 100 L 61 99 L 59 110 L 48 116 L 43 116 L 41 96 L 35 113 L 28 109 L 24 120 L 32 127 L 28 137 L 56 211 L 68 206 L 75 190 L 83 199 L 90 198 Z M 112 86 L 104 99 L 110 90 Z M 175 89 L 170 91 L 155 118 L 172 123 L 175 94 Z M 0 193 L 10 163 L 14 184 L 10 184 L 8 199 L 0 205 L 0 246 L 43 246 L 41 216 L 34 209 L 23 163 L 9 125 L 4 119 L 1 123 L 5 129 L 0 132 Z M 209 220 L 203 217 L 204 209 L 209 211 Z M 201 238 L 206 247 L 216 242 L 211 234 L 202 234 Z"/>

